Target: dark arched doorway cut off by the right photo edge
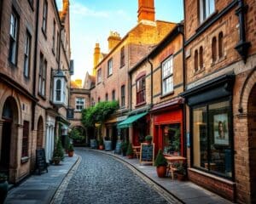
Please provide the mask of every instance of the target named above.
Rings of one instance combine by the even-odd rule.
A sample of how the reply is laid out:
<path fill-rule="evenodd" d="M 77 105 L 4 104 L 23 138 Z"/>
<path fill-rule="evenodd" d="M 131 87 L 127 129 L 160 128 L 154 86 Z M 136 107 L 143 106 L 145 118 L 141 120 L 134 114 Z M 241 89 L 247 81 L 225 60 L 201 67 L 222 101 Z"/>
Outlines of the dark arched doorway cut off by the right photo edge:
<path fill-rule="evenodd" d="M 256 84 L 252 88 L 247 105 L 251 203 L 256 203 Z"/>

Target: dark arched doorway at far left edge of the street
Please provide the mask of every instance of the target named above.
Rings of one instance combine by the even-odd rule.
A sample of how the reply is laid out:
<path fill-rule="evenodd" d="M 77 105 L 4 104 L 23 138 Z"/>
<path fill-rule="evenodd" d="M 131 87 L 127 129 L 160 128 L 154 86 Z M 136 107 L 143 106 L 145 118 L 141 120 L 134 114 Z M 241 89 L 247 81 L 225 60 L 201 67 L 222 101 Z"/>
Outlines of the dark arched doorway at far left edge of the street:
<path fill-rule="evenodd" d="M 1 155 L 0 155 L 0 171 L 9 175 L 10 166 L 15 162 L 16 145 L 12 141 L 17 138 L 18 124 L 18 106 L 13 97 L 5 100 L 3 105 L 3 127 L 1 133 Z M 13 146 L 11 146 L 13 144 Z"/>

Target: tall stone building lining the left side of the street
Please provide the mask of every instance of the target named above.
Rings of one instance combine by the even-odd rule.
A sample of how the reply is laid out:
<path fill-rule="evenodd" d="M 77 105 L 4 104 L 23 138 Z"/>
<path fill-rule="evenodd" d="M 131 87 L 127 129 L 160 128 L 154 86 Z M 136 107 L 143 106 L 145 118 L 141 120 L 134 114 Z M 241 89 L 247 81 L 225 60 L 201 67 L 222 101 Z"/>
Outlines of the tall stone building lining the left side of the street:
<path fill-rule="evenodd" d="M 68 124 L 69 3 L 62 3 L 60 14 L 54 0 L 0 3 L 0 171 L 12 184 L 35 169 L 37 149 L 51 160 L 56 129 Z M 67 87 L 56 90 L 58 77 Z"/>

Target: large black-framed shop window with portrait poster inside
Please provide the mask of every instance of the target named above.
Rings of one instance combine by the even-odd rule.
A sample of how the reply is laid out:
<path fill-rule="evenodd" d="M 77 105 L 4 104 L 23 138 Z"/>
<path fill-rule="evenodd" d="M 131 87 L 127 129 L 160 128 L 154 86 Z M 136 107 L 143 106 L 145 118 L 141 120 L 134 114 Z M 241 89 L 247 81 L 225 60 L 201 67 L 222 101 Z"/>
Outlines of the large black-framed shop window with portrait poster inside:
<path fill-rule="evenodd" d="M 232 177 L 230 101 L 193 109 L 193 166 Z"/>

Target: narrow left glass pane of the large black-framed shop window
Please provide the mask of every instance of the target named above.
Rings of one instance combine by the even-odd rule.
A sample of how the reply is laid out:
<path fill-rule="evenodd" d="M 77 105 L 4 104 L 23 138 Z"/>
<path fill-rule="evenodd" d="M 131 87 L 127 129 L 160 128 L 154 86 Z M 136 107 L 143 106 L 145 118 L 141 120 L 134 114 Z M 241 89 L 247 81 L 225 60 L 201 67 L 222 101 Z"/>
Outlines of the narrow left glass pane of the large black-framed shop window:
<path fill-rule="evenodd" d="M 195 167 L 207 167 L 207 107 L 193 110 L 193 159 Z"/>

